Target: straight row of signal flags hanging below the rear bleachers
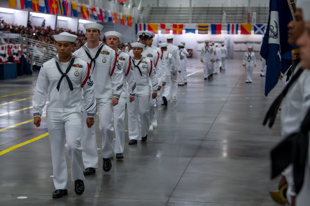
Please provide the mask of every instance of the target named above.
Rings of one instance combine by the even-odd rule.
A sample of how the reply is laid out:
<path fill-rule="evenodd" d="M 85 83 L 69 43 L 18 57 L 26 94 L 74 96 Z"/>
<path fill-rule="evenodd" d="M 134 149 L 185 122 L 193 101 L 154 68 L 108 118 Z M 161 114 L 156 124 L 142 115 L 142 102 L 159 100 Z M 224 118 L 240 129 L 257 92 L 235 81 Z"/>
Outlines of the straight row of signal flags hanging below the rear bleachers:
<path fill-rule="evenodd" d="M 160 29 L 158 29 L 160 26 Z M 265 24 L 253 24 L 254 34 L 264 34 Z M 158 30 L 162 34 L 170 34 L 170 29 L 172 28 L 173 34 L 183 34 L 185 33 L 195 33 L 195 30 L 198 30 L 198 34 L 221 34 L 222 33 L 222 24 L 208 24 L 208 23 L 138 23 L 135 25 L 136 33 L 140 31 L 145 31 L 146 28 L 148 31 L 153 32 L 154 34 L 158 33 Z M 227 33 L 228 34 L 251 34 L 252 24 L 250 23 L 228 23 L 227 24 Z"/>

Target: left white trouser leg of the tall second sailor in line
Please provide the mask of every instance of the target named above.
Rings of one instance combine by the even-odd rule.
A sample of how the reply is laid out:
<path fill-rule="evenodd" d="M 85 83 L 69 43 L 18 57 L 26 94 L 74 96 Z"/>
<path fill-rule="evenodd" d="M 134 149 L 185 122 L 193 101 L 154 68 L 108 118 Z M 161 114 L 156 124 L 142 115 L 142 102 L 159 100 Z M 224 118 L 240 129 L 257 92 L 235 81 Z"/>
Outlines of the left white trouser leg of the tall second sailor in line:
<path fill-rule="evenodd" d="M 83 107 L 85 110 L 85 101 L 83 99 Z M 95 112 L 96 113 L 96 112 Z M 82 154 L 83 154 L 83 164 L 85 168 L 92 167 L 98 168 L 98 151 L 97 151 L 97 141 L 96 141 L 96 126 L 93 124 L 91 128 L 87 128 L 86 124 L 87 113 L 83 112 L 82 116 Z M 96 122 L 96 115 L 94 116 L 94 122 Z M 85 123 L 85 124 L 84 124 Z"/>

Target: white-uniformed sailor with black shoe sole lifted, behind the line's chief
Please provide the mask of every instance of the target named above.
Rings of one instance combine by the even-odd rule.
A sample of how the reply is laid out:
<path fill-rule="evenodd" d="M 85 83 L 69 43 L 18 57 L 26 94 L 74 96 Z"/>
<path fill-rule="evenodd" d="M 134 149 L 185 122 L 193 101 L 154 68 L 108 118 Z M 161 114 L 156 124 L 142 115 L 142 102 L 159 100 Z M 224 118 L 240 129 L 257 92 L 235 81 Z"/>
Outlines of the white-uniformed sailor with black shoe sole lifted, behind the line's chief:
<path fill-rule="evenodd" d="M 159 44 L 159 46 L 162 48 L 164 52 L 164 56 L 166 58 L 166 64 L 167 64 L 167 82 L 165 86 L 163 86 L 163 89 L 160 91 L 162 96 L 162 105 L 167 106 L 167 98 L 170 97 L 170 88 L 171 88 L 171 76 L 177 75 L 177 70 L 174 64 L 174 58 L 172 54 L 167 52 L 167 43 Z M 169 100 L 170 101 L 170 100 Z"/>

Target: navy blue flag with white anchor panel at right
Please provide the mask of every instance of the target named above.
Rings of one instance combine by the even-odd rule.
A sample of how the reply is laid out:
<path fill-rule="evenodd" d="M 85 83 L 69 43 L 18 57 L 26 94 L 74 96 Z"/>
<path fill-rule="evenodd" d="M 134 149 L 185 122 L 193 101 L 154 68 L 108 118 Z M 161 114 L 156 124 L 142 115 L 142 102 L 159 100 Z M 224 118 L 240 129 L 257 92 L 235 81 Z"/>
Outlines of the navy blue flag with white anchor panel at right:
<path fill-rule="evenodd" d="M 268 24 L 260 48 L 260 55 L 267 62 L 265 96 L 277 85 L 281 71 L 284 73 L 288 69 L 287 64 L 281 65 L 282 55 L 297 48 L 287 43 L 287 24 L 293 19 L 290 6 L 282 0 L 270 0 L 269 3 Z"/>

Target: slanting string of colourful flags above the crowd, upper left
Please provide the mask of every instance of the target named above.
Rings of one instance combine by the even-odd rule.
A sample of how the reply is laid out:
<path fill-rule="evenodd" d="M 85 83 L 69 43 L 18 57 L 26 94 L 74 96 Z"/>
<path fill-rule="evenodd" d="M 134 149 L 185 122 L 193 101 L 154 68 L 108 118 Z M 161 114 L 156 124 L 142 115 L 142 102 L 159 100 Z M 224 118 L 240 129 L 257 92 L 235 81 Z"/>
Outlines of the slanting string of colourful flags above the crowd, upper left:
<path fill-rule="evenodd" d="M 8 0 L 9 7 L 15 9 L 30 8 L 47 14 L 63 15 L 68 17 L 78 17 L 78 6 L 76 2 L 70 0 Z M 117 12 L 99 7 L 81 4 L 83 19 L 91 19 L 90 10 L 96 21 L 118 23 Z M 132 16 L 119 13 L 121 25 L 132 27 Z"/>

